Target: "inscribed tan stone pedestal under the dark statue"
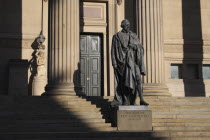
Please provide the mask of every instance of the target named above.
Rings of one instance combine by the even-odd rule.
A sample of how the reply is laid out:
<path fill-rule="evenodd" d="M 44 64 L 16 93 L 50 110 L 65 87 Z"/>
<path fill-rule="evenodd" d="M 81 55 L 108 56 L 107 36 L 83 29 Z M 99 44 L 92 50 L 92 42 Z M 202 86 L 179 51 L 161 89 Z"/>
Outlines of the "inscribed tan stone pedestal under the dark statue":
<path fill-rule="evenodd" d="M 152 111 L 147 106 L 119 106 L 118 131 L 152 131 Z"/>

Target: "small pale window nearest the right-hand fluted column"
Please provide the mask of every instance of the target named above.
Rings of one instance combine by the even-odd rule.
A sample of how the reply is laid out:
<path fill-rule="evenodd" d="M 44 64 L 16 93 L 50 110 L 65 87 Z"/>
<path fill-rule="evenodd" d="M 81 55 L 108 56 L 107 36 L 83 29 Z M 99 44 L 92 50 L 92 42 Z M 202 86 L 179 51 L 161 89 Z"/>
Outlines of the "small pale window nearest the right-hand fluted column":
<path fill-rule="evenodd" d="M 182 78 L 182 65 L 181 64 L 171 64 L 171 78 L 172 79 Z"/>

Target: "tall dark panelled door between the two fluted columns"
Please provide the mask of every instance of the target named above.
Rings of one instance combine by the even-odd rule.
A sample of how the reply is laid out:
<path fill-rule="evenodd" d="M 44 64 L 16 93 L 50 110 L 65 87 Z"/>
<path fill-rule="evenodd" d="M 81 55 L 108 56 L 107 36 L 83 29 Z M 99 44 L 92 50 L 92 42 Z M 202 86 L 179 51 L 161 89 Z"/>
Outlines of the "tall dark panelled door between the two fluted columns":
<path fill-rule="evenodd" d="M 80 37 L 80 77 L 82 92 L 101 96 L 101 39 L 98 35 Z"/>

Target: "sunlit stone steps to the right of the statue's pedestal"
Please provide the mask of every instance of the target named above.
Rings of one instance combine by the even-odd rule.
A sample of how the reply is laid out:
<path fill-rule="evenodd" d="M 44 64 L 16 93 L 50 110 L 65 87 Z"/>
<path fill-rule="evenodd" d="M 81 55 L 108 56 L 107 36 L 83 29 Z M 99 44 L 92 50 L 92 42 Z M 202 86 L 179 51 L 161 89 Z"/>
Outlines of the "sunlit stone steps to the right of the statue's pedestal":
<path fill-rule="evenodd" d="M 177 131 L 180 135 L 209 136 L 210 98 L 151 97 L 147 101 L 153 110 L 154 131 Z"/>

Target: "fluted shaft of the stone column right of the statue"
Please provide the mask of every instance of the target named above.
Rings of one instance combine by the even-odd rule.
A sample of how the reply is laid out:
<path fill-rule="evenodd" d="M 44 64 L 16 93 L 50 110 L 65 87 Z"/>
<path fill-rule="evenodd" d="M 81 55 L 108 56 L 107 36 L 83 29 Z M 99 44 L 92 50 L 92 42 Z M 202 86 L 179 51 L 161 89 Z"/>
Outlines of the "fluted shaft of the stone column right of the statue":
<path fill-rule="evenodd" d="M 136 0 L 137 34 L 145 50 L 145 84 L 164 84 L 162 0 Z"/>

